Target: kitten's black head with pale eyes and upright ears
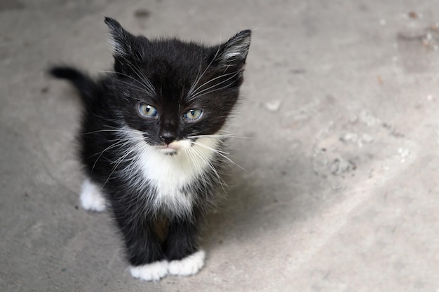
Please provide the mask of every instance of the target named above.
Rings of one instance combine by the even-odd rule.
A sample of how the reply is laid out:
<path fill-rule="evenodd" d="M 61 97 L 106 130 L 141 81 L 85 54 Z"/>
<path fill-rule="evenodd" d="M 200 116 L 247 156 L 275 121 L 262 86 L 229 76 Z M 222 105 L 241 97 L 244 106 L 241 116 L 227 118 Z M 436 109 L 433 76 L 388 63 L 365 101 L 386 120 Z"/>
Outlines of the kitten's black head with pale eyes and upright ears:
<path fill-rule="evenodd" d="M 217 134 L 243 82 L 250 30 L 218 46 L 133 36 L 105 18 L 114 47 L 117 106 L 125 123 L 151 146 L 175 153 Z"/>

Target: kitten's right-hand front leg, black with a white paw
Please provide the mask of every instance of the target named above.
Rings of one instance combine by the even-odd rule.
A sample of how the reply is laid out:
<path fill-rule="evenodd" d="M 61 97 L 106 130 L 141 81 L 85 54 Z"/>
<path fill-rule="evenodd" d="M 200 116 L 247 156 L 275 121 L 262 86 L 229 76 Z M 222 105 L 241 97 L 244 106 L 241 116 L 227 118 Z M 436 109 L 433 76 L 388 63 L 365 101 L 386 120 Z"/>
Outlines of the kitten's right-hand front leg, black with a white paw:
<path fill-rule="evenodd" d="M 204 265 L 205 252 L 198 248 L 198 223 L 195 218 L 170 223 L 165 242 L 170 274 L 189 276 Z"/>

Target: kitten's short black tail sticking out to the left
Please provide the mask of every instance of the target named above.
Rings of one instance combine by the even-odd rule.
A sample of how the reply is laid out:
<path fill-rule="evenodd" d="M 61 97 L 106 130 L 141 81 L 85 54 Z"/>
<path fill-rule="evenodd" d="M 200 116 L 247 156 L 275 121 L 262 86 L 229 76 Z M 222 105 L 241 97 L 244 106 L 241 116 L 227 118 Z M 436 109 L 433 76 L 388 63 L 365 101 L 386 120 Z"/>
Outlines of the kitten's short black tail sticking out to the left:
<path fill-rule="evenodd" d="M 50 74 L 60 79 L 67 79 L 70 81 L 83 99 L 84 104 L 90 104 L 95 99 L 95 82 L 86 74 L 83 74 L 78 69 L 72 67 L 53 67 L 49 71 Z"/>

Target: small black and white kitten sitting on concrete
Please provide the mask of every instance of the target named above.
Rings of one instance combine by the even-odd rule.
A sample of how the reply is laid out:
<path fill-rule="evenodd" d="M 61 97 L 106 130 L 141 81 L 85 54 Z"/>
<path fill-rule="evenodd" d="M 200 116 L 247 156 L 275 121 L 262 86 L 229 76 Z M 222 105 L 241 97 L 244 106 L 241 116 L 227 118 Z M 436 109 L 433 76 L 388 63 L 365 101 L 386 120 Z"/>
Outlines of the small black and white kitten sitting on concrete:
<path fill-rule="evenodd" d="M 73 68 L 51 69 L 75 85 L 85 107 L 82 207 L 109 208 L 133 277 L 195 274 L 205 258 L 200 224 L 227 160 L 222 127 L 243 83 L 251 32 L 202 46 L 133 36 L 112 18 L 105 23 L 114 72 L 93 81 Z"/>

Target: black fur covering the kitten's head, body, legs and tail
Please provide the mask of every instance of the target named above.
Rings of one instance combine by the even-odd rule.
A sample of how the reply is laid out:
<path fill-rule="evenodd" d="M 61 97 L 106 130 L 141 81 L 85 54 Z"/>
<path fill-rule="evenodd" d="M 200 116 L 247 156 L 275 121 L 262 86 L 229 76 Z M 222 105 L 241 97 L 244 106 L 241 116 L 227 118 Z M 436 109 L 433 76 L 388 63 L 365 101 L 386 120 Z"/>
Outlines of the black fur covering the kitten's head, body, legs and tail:
<path fill-rule="evenodd" d="M 192 195 L 191 211 L 175 213 L 154 204 L 158 190 L 140 169 L 133 169 L 138 153 L 127 152 L 135 144 L 123 140 L 121 132 L 142 132 L 150 146 L 217 133 L 238 99 L 250 31 L 209 47 L 177 39 L 149 40 L 126 32 L 116 20 L 105 22 L 115 48 L 114 73 L 93 81 L 69 67 L 50 72 L 72 82 L 81 94 L 85 111 L 80 157 L 87 176 L 103 187 L 130 264 L 179 260 L 199 249 L 199 226 L 215 200 L 221 183 L 215 172 L 222 170 L 224 158 L 212 156 L 212 167 L 203 170 L 203 177 L 182 188 L 182 193 Z M 140 104 L 154 106 L 158 115 L 145 118 Z M 190 109 L 202 109 L 201 118 L 187 120 Z M 158 221 L 167 223 L 163 237 Z"/>

